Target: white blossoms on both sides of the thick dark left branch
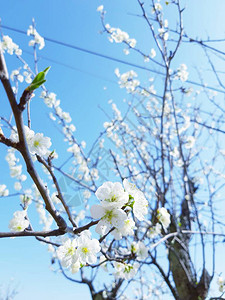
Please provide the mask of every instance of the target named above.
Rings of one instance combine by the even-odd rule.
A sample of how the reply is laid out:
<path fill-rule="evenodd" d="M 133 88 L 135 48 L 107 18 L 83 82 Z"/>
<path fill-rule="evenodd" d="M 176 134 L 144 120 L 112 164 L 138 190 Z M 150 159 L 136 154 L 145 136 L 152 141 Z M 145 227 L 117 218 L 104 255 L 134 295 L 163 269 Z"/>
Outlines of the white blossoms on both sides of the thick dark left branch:
<path fill-rule="evenodd" d="M 51 146 L 51 139 L 49 137 L 44 137 L 43 133 L 35 133 L 29 127 L 24 126 L 25 137 L 28 144 L 28 148 L 31 154 L 38 154 L 40 156 L 48 155 L 50 152 L 48 148 Z M 10 139 L 13 142 L 18 142 L 19 137 L 16 127 L 13 127 L 13 130 L 10 135 Z"/>

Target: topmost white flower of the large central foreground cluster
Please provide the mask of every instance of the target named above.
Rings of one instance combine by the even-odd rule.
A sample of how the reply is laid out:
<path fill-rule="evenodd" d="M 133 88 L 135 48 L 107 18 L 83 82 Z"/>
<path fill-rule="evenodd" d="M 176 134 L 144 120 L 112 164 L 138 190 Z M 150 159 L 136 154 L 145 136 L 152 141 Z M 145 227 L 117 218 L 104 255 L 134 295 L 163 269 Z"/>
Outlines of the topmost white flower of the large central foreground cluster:
<path fill-rule="evenodd" d="M 112 205 L 121 208 L 129 200 L 128 193 L 124 192 L 123 186 L 119 182 L 113 183 L 107 181 L 103 183 L 103 185 L 97 189 L 95 195 L 101 200 L 103 206 Z"/>

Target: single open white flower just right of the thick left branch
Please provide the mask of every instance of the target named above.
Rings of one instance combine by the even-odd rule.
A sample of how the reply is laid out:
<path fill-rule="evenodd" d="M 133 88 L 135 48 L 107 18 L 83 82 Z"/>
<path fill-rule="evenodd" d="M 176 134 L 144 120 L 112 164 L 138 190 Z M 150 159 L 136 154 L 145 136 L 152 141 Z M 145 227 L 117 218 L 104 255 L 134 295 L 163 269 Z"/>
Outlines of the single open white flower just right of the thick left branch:
<path fill-rule="evenodd" d="M 48 153 L 48 148 L 51 144 L 51 139 L 49 137 L 44 137 L 43 133 L 36 133 L 30 140 L 29 149 L 31 154 L 44 156 Z"/>

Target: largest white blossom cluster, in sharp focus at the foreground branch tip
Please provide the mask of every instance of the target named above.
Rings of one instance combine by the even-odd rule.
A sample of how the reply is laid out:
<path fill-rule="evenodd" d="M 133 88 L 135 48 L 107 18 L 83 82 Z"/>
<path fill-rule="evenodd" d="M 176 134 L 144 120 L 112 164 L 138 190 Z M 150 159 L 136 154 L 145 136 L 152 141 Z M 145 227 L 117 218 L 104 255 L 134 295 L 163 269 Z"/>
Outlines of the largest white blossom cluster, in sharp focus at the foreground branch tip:
<path fill-rule="evenodd" d="M 108 233 L 113 227 L 116 238 L 130 235 L 134 229 L 134 222 L 127 215 L 130 209 L 133 209 L 133 214 L 139 221 L 143 221 L 148 212 L 148 201 L 144 194 L 127 179 L 124 179 L 123 185 L 108 181 L 95 193 L 100 204 L 91 207 L 91 216 L 100 219 L 96 232 L 101 235 Z"/>

